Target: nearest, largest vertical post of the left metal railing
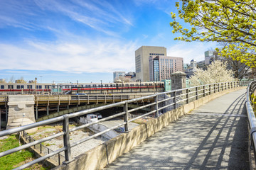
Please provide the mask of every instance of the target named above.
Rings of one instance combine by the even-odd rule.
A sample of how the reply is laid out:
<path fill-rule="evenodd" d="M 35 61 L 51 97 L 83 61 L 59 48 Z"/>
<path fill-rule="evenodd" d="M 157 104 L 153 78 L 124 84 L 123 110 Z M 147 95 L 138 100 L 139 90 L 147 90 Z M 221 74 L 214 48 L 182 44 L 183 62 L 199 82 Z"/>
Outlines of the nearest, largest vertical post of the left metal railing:
<path fill-rule="evenodd" d="M 63 142 L 65 147 L 65 162 L 63 163 L 68 164 L 71 159 L 69 118 L 68 115 L 63 115 L 63 117 L 63 132 L 65 132 L 65 134 L 63 135 Z"/>

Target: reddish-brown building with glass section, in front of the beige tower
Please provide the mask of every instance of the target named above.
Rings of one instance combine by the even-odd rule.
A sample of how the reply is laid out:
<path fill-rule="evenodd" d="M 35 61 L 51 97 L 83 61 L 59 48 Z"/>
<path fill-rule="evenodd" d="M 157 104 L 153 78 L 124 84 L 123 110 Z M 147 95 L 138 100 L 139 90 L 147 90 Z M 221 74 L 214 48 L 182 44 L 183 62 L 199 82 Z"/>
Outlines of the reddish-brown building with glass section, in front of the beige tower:
<path fill-rule="evenodd" d="M 171 74 L 183 72 L 183 58 L 169 56 L 149 56 L 149 81 L 171 79 Z"/>

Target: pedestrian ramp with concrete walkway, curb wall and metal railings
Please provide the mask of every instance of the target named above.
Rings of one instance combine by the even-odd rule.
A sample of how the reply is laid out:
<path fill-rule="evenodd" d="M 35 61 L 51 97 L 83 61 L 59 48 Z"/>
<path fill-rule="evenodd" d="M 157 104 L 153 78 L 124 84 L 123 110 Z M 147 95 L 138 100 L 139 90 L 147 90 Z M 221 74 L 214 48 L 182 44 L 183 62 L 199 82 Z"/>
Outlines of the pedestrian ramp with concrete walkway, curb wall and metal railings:
<path fill-rule="evenodd" d="M 244 82 L 229 82 L 167 91 L 5 130 L 0 132 L 0 137 L 63 122 L 63 132 L 27 141 L 26 145 L 1 152 L 0 157 L 28 147 L 33 149 L 42 142 L 63 136 L 64 147 L 41 155 L 17 169 L 43 160 L 49 162 L 48 158 L 60 153 L 65 155 L 65 159 L 59 162 L 60 165 L 56 163 L 55 169 L 253 169 L 256 119 L 250 96 L 255 93 L 256 81 L 250 83 L 247 90 L 246 86 Z M 154 109 L 129 118 L 129 114 L 140 108 L 129 109 L 128 104 L 148 98 L 155 100 L 140 108 L 154 106 Z M 70 118 L 117 106 L 123 106 L 124 110 L 96 122 L 68 128 Z M 154 117 L 136 128 L 129 128 L 130 122 L 146 115 Z M 124 123 L 70 142 L 70 132 L 120 116 Z M 124 127 L 125 132 L 90 151 L 81 152 L 78 157 L 72 157 L 75 146 L 118 127 Z M 38 151 L 34 149 L 34 152 Z"/>

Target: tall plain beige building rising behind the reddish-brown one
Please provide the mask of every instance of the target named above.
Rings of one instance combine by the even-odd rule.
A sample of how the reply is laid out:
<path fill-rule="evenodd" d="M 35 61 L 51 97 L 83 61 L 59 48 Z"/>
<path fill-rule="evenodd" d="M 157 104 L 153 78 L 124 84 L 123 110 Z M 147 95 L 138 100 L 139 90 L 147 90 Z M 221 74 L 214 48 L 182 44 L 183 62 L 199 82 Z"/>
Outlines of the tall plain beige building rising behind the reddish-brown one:
<path fill-rule="evenodd" d="M 149 56 L 166 56 L 166 47 L 142 46 L 135 51 L 137 81 L 149 81 Z"/>

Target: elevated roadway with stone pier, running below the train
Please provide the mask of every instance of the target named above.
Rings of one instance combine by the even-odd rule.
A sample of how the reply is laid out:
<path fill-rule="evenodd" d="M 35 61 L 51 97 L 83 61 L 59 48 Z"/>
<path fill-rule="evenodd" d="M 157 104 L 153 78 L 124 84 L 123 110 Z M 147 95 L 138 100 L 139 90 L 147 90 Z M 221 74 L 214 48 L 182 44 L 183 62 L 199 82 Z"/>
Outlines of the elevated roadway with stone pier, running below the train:
<path fill-rule="evenodd" d="M 110 103 L 127 101 L 133 98 L 149 96 L 143 94 L 94 94 L 94 95 L 3 95 L 0 96 L 0 114 L 6 116 L 7 128 L 20 125 L 16 119 L 28 118 L 41 121 L 55 118 L 63 114 L 75 113 L 89 108 L 105 106 Z M 154 98 L 142 100 L 151 102 Z M 41 114 L 39 114 L 40 112 Z M 0 116 L 1 118 L 1 116 Z M 7 121 L 8 120 L 8 121 Z"/>

